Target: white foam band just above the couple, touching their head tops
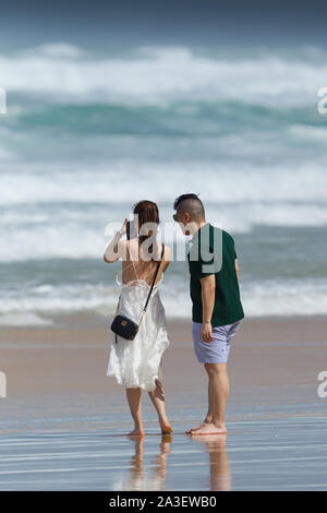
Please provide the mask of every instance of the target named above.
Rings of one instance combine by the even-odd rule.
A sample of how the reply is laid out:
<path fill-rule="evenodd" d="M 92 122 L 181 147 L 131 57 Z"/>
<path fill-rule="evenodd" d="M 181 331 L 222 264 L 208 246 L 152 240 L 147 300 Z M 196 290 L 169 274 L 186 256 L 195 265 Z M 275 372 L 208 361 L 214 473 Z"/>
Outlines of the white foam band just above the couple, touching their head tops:
<path fill-rule="evenodd" d="M 80 163 L 20 163 L 1 174 L 0 205 L 36 203 L 133 204 L 152 198 L 169 204 L 187 191 L 208 203 L 325 202 L 325 162 L 269 165 L 215 162 L 116 160 L 96 170 Z M 124 184 L 122 187 L 122 183 Z M 232 191 L 232 192 L 231 192 Z"/>

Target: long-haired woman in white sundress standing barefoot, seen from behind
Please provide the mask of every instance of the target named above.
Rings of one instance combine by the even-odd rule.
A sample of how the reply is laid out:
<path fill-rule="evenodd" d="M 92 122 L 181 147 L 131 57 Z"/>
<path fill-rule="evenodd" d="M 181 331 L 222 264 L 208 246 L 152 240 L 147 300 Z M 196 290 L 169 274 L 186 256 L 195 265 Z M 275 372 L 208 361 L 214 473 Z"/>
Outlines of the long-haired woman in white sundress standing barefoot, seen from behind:
<path fill-rule="evenodd" d="M 161 432 L 172 432 L 169 425 L 161 384 L 160 362 L 169 346 L 165 309 L 159 296 L 159 284 L 170 264 L 171 249 L 157 241 L 159 212 L 156 203 L 141 201 L 134 207 L 136 234 L 130 240 L 122 239 L 126 232 L 128 219 L 105 250 L 105 262 L 122 259 L 121 294 L 118 312 L 138 323 L 145 306 L 156 267 L 162 255 L 154 289 L 143 317 L 140 330 L 133 341 L 126 341 L 112 333 L 107 375 L 114 375 L 118 383 L 126 389 L 126 396 L 135 427 L 129 434 L 144 436 L 141 397 L 142 390 L 157 410 Z M 148 228 L 150 228 L 148 230 Z M 118 313 L 117 312 L 117 313 Z"/>

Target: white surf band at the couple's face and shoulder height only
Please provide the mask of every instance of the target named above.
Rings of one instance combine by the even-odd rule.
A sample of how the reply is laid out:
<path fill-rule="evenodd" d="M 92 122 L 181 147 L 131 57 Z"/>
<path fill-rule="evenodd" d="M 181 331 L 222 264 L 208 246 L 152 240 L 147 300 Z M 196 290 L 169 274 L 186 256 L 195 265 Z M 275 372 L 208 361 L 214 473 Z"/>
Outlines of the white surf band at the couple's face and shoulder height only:
<path fill-rule="evenodd" d="M 45 259 L 101 259 L 113 229 L 120 228 L 132 205 L 93 207 L 66 204 L 56 208 L 22 208 L 0 217 L 0 262 Z M 172 204 L 160 205 L 160 237 L 165 242 L 182 243 L 183 236 L 173 223 Z M 327 226 L 326 203 L 243 202 L 218 204 L 206 202 L 207 219 L 231 234 L 251 234 L 256 227 L 322 228 Z M 107 231 L 106 227 L 108 227 Z M 109 229 L 110 228 L 110 229 Z"/>

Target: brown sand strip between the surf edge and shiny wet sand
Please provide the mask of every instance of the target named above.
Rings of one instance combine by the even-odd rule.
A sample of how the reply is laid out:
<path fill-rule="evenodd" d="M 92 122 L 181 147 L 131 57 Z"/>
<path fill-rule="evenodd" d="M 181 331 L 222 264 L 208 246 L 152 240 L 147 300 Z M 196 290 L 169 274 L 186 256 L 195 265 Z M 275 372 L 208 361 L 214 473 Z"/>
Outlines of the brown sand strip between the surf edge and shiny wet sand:
<path fill-rule="evenodd" d="M 62 327 L 9 327 L 0 332 L 1 367 L 15 394 L 121 391 L 107 378 L 110 332 L 104 321 L 76 317 Z M 108 324 L 109 325 L 109 324 Z M 197 363 L 191 322 L 169 321 L 171 346 L 164 357 L 166 390 L 196 391 L 206 381 Z M 308 386 L 327 369 L 327 319 L 244 320 L 229 360 L 234 392 L 244 386 Z M 295 397 L 294 397 L 295 398 Z M 301 394 L 299 394 L 301 398 Z"/>

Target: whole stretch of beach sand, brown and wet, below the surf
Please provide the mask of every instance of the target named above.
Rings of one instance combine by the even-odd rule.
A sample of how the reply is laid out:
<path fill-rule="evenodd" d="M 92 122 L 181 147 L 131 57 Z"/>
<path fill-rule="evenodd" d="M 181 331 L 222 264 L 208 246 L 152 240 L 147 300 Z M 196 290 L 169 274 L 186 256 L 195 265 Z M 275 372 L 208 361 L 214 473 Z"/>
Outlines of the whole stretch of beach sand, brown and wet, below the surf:
<path fill-rule="evenodd" d="M 244 320 L 230 353 L 226 441 L 184 436 L 205 415 L 207 379 L 191 323 L 168 320 L 162 370 L 174 433 L 161 439 L 144 397 L 144 442 L 125 437 L 124 391 L 106 375 L 108 323 L 59 321 L 0 333 L 0 489 L 327 489 L 327 398 L 317 395 L 325 318 Z"/>

